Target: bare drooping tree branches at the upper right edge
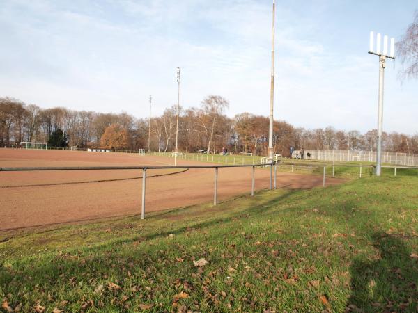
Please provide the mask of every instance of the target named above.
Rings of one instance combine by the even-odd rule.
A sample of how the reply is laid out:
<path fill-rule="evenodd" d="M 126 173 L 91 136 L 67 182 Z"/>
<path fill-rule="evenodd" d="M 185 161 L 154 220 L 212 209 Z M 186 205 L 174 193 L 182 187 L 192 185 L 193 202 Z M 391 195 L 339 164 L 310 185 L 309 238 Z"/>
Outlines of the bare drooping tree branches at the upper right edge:
<path fill-rule="evenodd" d="M 418 78 L 418 10 L 415 11 L 414 22 L 396 44 L 396 50 L 403 64 L 399 77 L 402 80 Z"/>

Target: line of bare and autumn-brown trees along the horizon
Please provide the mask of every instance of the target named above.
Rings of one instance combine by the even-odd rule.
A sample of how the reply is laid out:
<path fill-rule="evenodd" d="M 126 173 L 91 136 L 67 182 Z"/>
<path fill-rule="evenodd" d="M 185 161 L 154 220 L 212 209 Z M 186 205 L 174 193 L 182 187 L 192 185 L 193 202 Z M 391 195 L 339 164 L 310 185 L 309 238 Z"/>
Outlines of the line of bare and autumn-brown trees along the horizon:
<path fill-rule="evenodd" d="M 224 97 L 210 95 L 200 106 L 180 108 L 178 150 L 207 149 L 210 153 L 219 153 L 226 148 L 229 152 L 266 155 L 268 117 L 245 112 L 229 118 L 225 114 L 228 107 L 229 102 Z M 2 97 L 0 145 L 19 146 L 23 141 L 47 143 L 61 131 L 66 144 L 72 147 L 148 150 L 150 135 L 151 151 L 171 152 L 175 147 L 176 115 L 175 105 L 149 120 L 127 113 L 74 111 L 63 107 L 42 109 L 35 104 Z M 377 131 L 373 129 L 362 134 L 334 127 L 304 129 L 285 121 L 274 121 L 273 141 L 274 151 L 284 156 L 288 156 L 290 147 L 296 150 L 371 151 L 376 150 Z M 418 134 L 384 133 L 383 149 L 417 154 Z"/>

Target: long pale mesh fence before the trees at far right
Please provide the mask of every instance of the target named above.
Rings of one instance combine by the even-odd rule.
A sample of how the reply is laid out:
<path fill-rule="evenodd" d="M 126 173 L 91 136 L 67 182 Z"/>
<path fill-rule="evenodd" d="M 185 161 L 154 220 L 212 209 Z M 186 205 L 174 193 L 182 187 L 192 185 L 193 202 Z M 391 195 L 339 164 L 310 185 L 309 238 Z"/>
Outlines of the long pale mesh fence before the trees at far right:
<path fill-rule="evenodd" d="M 376 162 L 375 151 L 306 150 L 305 159 L 336 162 Z M 382 162 L 404 166 L 418 166 L 418 156 L 413 153 L 382 152 Z"/>

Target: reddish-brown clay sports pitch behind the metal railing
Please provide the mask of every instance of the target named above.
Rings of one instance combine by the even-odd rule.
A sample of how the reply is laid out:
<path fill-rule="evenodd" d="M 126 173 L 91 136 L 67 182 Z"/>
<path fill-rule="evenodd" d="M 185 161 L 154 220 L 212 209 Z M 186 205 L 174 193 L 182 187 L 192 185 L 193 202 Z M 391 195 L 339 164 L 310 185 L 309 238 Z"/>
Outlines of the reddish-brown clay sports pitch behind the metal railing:
<path fill-rule="evenodd" d="M 183 160 L 177 163 L 208 165 Z M 173 165 L 173 159 L 111 152 L 0 149 L 0 167 L 164 165 Z M 212 168 L 178 171 L 148 170 L 146 212 L 213 200 Z M 171 175 L 156 176 L 161 174 Z M 0 172 L 0 231 L 141 214 L 139 177 L 141 170 Z M 327 178 L 327 185 L 340 182 Z M 322 184 L 322 177 L 314 175 L 277 173 L 278 188 L 313 188 Z M 256 189 L 268 186 L 270 172 L 257 169 Z M 251 168 L 219 169 L 218 200 L 250 191 Z"/>

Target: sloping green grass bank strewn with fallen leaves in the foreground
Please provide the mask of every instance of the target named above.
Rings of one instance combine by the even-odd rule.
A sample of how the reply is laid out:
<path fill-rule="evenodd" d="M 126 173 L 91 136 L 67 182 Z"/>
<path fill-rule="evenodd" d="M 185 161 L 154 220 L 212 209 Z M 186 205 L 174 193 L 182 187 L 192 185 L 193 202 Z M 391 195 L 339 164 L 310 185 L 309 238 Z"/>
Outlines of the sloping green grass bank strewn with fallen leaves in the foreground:
<path fill-rule="evenodd" d="M 416 312 L 417 190 L 417 177 L 370 177 L 3 233 L 2 307 Z"/>

